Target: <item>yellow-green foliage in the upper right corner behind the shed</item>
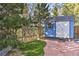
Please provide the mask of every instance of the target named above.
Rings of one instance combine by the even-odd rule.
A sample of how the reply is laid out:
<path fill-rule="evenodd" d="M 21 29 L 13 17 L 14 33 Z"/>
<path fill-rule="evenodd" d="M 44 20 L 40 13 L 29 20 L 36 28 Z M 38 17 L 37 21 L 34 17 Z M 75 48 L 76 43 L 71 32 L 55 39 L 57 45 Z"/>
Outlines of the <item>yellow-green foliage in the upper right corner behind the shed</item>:
<path fill-rule="evenodd" d="M 79 3 L 66 3 L 62 7 L 62 15 L 73 15 L 75 18 L 75 26 L 79 26 Z"/>

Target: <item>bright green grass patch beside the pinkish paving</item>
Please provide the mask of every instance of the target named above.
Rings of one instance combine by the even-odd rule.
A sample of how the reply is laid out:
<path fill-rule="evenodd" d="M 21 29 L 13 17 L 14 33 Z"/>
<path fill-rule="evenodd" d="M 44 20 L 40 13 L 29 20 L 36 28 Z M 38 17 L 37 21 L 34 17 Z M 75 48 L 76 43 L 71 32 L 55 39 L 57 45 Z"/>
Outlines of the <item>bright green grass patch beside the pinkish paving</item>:
<path fill-rule="evenodd" d="M 43 56 L 46 43 L 40 40 L 34 40 L 28 43 L 22 43 L 18 47 L 25 56 Z"/>

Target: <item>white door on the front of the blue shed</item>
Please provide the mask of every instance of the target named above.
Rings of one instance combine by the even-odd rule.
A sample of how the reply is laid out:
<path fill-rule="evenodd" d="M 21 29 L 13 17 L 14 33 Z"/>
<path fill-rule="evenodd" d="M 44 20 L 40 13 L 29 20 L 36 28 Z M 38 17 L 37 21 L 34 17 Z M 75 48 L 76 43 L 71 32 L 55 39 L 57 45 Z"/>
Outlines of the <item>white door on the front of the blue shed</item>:
<path fill-rule="evenodd" d="M 69 21 L 56 22 L 56 37 L 69 38 Z"/>

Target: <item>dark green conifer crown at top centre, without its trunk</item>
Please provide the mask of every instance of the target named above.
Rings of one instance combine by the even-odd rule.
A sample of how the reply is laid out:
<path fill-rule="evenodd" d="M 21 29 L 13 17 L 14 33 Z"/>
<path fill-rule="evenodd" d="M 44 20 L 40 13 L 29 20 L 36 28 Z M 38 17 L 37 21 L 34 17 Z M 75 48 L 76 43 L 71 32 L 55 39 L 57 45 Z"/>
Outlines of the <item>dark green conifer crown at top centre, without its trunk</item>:
<path fill-rule="evenodd" d="M 46 19 L 49 16 L 49 5 L 47 3 L 39 3 L 36 7 L 35 20 L 39 23 L 42 19 Z"/>

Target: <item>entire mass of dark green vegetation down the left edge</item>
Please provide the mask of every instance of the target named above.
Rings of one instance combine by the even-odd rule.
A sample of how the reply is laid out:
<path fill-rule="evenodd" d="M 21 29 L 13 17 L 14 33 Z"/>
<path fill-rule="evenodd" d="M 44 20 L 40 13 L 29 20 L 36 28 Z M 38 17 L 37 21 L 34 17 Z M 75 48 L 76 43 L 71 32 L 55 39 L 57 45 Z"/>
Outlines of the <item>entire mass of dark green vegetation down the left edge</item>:
<path fill-rule="evenodd" d="M 16 32 L 25 25 L 24 4 L 0 4 L 0 50 L 17 46 Z"/>

